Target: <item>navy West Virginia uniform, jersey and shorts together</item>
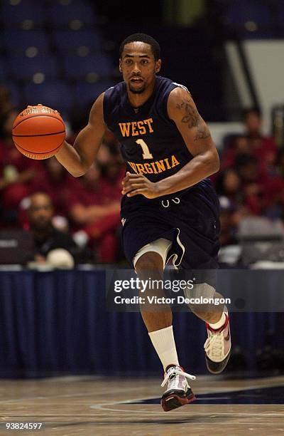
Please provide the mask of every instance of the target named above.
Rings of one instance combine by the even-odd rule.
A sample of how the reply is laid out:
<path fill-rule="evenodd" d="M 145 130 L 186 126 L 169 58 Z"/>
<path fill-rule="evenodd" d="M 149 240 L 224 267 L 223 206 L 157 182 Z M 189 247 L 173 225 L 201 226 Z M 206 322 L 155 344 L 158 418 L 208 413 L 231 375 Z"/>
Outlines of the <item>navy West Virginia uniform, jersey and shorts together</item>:
<path fill-rule="evenodd" d="M 138 112 L 131 107 L 126 83 L 104 93 L 104 121 L 121 144 L 121 154 L 132 173 L 157 182 L 178 172 L 192 155 L 175 123 L 168 117 L 170 92 L 178 83 L 156 77 L 153 94 Z M 122 239 L 129 263 L 149 242 L 173 242 L 168 256 L 182 268 L 217 267 L 219 204 L 209 179 L 168 196 L 143 195 L 121 200 Z"/>

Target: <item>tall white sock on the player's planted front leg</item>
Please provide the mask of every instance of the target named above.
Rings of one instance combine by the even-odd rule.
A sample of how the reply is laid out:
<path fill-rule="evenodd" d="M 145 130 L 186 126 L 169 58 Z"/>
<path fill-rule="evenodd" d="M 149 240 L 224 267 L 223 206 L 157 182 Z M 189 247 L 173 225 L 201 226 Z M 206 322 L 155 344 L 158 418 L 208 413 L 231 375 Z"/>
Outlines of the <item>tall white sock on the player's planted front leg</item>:
<path fill-rule="evenodd" d="M 175 338 L 173 337 L 173 326 L 151 331 L 149 336 L 162 362 L 164 370 L 170 364 L 179 365 L 178 354 L 175 348 Z"/>

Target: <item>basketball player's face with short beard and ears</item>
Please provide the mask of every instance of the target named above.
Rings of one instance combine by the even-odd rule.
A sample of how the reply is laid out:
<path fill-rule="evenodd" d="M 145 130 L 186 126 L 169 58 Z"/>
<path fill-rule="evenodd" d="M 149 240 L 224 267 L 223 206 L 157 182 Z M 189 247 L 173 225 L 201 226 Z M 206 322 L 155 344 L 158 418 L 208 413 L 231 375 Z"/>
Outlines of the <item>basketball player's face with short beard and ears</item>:
<path fill-rule="evenodd" d="M 128 90 L 134 94 L 143 93 L 155 81 L 160 63 L 160 59 L 155 61 L 149 44 L 139 41 L 126 44 L 119 59 L 119 71 Z"/>

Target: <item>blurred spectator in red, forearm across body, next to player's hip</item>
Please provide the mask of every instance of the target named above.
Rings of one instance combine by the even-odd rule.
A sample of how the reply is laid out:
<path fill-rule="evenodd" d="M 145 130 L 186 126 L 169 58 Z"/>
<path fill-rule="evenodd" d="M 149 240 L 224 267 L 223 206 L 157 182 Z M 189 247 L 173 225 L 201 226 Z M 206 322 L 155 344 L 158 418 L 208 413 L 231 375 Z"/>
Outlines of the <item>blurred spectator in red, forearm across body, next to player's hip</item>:
<path fill-rule="evenodd" d="M 94 163 L 70 196 L 70 217 L 75 229 L 83 229 L 89 237 L 99 262 L 116 260 L 119 248 L 116 233 L 121 226 L 119 210 L 120 202 L 115 194 L 111 197 L 111 186 L 101 178 L 100 167 Z"/>

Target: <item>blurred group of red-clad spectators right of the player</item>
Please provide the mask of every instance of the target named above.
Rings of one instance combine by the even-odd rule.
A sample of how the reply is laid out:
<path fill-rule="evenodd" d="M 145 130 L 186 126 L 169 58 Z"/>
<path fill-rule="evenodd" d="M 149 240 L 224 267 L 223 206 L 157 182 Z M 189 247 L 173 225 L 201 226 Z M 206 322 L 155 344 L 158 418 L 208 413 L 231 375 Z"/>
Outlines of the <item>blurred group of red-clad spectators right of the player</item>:
<path fill-rule="evenodd" d="M 263 135 L 261 113 L 244 113 L 244 134 L 227 135 L 214 177 L 221 206 L 222 246 L 237 242 L 241 219 L 284 219 L 284 147 Z M 284 146 L 284 145 L 283 145 Z"/>

